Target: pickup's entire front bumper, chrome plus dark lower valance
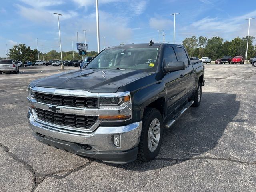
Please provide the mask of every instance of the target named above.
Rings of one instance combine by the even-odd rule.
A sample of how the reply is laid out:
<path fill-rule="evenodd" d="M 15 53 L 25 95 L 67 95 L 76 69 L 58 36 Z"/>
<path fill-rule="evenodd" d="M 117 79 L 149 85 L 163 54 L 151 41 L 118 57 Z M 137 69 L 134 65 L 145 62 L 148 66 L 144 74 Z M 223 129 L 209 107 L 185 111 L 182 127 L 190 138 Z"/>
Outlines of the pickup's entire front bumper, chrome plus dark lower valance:
<path fill-rule="evenodd" d="M 28 122 L 34 137 L 40 142 L 51 143 L 51 146 L 74 154 L 116 163 L 127 163 L 136 159 L 142 129 L 142 121 L 140 121 L 119 127 L 99 126 L 94 132 L 88 132 L 88 134 L 74 134 L 73 132 L 71 134 L 68 127 L 66 131 L 60 131 L 54 124 L 42 124 L 36 121 L 30 112 L 28 112 Z M 113 144 L 113 135 L 120 135 L 120 147 Z M 85 145 L 90 146 L 92 150 L 80 148 Z M 130 159 L 123 158 L 127 158 L 126 154 L 129 154 Z"/>

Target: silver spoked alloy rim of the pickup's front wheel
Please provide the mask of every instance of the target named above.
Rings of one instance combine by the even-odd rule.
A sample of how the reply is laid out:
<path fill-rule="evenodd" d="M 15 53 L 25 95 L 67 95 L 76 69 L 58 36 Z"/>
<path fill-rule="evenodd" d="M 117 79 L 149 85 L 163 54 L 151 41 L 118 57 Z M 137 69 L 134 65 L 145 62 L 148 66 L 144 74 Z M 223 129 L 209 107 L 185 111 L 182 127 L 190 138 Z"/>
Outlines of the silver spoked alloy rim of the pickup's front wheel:
<path fill-rule="evenodd" d="M 148 149 L 153 152 L 156 150 L 161 134 L 161 126 L 159 120 L 153 119 L 148 129 Z"/>

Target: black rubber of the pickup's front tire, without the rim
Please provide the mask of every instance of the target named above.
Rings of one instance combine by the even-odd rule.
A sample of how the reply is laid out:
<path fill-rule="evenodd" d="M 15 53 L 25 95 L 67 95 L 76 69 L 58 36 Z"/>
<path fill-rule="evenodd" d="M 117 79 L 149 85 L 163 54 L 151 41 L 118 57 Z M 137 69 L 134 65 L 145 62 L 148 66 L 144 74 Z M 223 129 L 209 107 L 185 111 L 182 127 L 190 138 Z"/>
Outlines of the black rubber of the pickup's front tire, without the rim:
<path fill-rule="evenodd" d="M 159 138 L 159 142 L 156 149 L 154 151 L 150 151 L 148 148 L 148 134 L 149 134 L 148 131 L 150 128 L 150 124 L 154 119 L 158 119 L 160 123 L 160 138 Z M 143 114 L 142 131 L 140 135 L 140 143 L 138 145 L 139 150 L 138 150 L 137 159 L 139 161 L 147 162 L 154 159 L 158 155 L 161 144 L 162 144 L 163 129 L 164 129 L 163 119 L 160 112 L 155 108 L 146 108 Z"/>

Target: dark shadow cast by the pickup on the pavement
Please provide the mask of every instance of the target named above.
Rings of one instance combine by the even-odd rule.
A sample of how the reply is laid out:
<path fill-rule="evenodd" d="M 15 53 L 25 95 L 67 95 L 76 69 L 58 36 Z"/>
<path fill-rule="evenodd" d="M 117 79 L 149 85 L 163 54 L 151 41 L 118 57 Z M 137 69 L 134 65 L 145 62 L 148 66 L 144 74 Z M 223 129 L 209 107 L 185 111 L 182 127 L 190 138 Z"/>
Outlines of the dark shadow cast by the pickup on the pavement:
<path fill-rule="evenodd" d="M 146 171 L 202 157 L 216 147 L 230 122 L 247 121 L 234 119 L 239 108 L 236 94 L 203 92 L 198 108 L 188 109 L 170 129 L 164 130 L 160 153 L 154 160 L 111 166 Z"/>

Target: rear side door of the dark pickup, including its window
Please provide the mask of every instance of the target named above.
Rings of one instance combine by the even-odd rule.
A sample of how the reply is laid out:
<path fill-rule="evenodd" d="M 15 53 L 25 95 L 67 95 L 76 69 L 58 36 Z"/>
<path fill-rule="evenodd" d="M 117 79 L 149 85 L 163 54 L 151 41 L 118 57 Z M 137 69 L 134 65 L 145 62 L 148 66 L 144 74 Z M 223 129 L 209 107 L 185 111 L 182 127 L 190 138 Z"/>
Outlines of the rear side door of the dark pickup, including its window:
<path fill-rule="evenodd" d="M 191 96 L 194 90 L 194 68 L 192 64 L 188 60 L 188 56 L 183 47 L 176 46 L 175 53 L 178 61 L 183 61 L 185 63 L 185 70 L 183 70 L 183 82 L 184 82 L 184 90 L 182 92 L 182 96 L 184 100 L 188 99 Z"/>

